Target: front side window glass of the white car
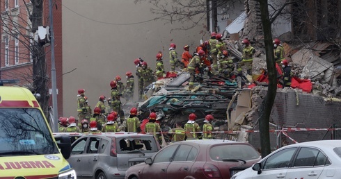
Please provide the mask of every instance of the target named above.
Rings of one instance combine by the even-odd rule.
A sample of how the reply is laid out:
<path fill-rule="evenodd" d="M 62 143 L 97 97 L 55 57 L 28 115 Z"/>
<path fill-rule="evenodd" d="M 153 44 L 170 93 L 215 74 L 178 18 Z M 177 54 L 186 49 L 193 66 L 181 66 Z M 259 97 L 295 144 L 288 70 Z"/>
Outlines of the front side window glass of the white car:
<path fill-rule="evenodd" d="M 296 148 L 285 148 L 282 151 L 274 153 L 267 160 L 264 161 L 263 169 L 278 169 L 289 167 L 292 155 L 294 155 Z M 263 164 L 262 164 L 263 166 Z"/>

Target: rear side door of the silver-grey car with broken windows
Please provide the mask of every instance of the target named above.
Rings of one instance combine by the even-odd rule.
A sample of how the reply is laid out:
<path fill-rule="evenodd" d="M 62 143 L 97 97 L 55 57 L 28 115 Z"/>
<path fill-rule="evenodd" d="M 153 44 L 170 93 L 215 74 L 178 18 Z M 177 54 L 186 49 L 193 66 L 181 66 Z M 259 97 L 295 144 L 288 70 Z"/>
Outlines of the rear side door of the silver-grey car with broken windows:
<path fill-rule="evenodd" d="M 88 143 L 86 146 L 86 153 L 83 155 L 83 159 L 81 164 L 83 164 L 84 168 L 81 171 L 84 173 L 86 177 L 93 177 L 95 173 L 95 169 L 98 164 L 98 155 L 99 155 L 99 145 L 100 145 L 100 137 L 88 137 Z"/>

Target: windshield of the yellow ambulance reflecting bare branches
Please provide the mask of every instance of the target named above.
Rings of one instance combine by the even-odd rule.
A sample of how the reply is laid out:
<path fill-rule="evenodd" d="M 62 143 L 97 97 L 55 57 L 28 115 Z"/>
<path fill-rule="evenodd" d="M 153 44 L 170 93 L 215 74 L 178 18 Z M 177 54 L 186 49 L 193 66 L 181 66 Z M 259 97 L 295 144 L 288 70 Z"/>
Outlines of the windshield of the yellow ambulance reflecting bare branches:
<path fill-rule="evenodd" d="M 40 110 L 0 108 L 0 157 L 58 153 Z"/>

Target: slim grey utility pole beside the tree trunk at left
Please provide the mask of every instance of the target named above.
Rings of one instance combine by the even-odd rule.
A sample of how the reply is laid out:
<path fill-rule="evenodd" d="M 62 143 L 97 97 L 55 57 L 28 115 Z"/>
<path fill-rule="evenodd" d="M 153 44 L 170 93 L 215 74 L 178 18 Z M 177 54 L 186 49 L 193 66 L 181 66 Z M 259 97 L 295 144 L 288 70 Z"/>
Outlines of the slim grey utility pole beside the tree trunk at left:
<path fill-rule="evenodd" d="M 51 84 L 52 84 L 52 107 L 53 107 L 53 126 L 54 133 L 58 132 L 58 105 L 57 105 L 57 83 L 56 83 L 56 67 L 54 65 L 54 15 L 52 12 L 52 0 L 49 0 L 49 30 L 51 35 Z"/>

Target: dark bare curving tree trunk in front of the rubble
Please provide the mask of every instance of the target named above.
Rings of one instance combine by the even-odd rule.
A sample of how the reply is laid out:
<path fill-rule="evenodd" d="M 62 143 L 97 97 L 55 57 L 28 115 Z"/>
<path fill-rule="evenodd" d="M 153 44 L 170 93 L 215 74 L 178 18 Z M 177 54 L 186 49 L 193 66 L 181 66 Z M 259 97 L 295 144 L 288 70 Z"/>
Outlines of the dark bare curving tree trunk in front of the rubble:
<path fill-rule="evenodd" d="M 258 0 L 260 2 L 260 12 L 262 17 L 265 53 L 267 56 L 267 70 L 269 74 L 269 86 L 267 94 L 260 106 L 260 146 L 262 157 L 271 153 L 269 136 L 269 119 L 273 102 L 276 98 L 277 74 L 275 59 L 273 56 L 273 43 L 271 35 L 271 22 L 269 19 L 269 9 L 267 0 Z"/>

